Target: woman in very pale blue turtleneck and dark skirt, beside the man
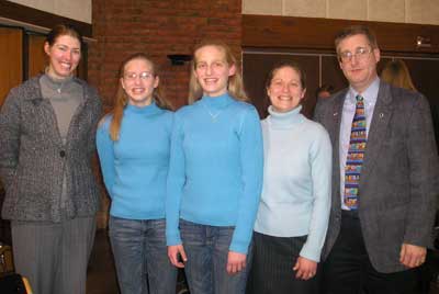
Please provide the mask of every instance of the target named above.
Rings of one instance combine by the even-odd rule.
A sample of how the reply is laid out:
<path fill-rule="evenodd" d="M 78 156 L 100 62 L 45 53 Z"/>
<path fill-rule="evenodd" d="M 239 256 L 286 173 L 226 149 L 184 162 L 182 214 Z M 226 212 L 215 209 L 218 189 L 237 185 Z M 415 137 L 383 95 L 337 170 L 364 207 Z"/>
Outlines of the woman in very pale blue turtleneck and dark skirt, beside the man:
<path fill-rule="evenodd" d="M 315 275 L 329 218 L 331 146 L 324 127 L 301 114 L 305 91 L 305 75 L 296 64 L 271 70 L 252 294 L 318 293 Z"/>

